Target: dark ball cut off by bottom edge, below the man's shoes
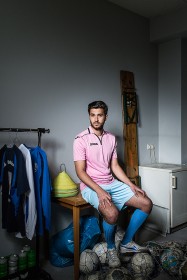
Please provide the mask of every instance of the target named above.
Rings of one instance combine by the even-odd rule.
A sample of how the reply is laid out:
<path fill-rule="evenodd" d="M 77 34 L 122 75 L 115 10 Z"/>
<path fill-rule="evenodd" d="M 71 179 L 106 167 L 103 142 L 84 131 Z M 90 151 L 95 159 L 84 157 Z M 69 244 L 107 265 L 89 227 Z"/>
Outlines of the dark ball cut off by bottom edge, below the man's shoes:
<path fill-rule="evenodd" d="M 125 267 L 109 269 L 105 280 L 131 280 L 132 277 Z"/>

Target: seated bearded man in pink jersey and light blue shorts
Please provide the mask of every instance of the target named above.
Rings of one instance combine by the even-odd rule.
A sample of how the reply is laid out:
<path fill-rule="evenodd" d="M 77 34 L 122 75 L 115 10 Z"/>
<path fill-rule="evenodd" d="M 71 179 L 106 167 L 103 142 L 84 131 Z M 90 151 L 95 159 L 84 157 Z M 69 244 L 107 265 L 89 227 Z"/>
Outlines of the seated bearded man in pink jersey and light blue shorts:
<path fill-rule="evenodd" d="M 121 263 L 115 247 L 119 211 L 127 206 L 136 208 L 121 241 L 120 252 L 141 252 L 145 248 L 136 244 L 133 237 L 151 212 L 152 201 L 120 167 L 116 138 L 104 130 L 107 113 L 108 107 L 103 101 L 88 105 L 90 126 L 75 138 L 73 151 L 82 196 L 103 217 L 109 266 L 119 267 Z"/>

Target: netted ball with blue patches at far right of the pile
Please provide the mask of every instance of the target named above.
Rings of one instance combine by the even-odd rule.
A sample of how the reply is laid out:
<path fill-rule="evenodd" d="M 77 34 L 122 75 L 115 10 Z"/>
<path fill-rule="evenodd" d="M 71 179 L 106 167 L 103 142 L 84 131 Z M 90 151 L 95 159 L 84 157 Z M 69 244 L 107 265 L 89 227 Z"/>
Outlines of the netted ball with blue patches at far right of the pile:
<path fill-rule="evenodd" d="M 165 249 L 160 257 L 163 269 L 170 275 L 177 275 L 183 256 L 183 251 L 178 248 Z"/>

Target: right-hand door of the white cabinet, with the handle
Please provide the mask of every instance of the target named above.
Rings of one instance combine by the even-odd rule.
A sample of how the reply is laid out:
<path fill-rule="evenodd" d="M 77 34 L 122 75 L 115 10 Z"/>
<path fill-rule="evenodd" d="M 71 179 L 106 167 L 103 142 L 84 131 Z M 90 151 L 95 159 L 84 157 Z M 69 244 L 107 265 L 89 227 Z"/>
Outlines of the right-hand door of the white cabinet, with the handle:
<path fill-rule="evenodd" d="M 171 228 L 187 222 L 187 171 L 171 177 Z"/>

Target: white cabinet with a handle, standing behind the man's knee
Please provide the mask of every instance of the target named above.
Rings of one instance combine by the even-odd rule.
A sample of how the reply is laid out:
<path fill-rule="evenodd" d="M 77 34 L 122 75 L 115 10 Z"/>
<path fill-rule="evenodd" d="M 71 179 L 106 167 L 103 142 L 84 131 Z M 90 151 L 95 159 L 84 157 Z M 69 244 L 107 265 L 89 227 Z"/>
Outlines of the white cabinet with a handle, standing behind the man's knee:
<path fill-rule="evenodd" d="M 187 223 L 187 166 L 150 164 L 139 166 L 140 185 L 153 201 L 146 227 L 170 233 Z"/>

